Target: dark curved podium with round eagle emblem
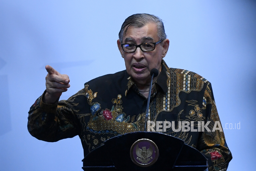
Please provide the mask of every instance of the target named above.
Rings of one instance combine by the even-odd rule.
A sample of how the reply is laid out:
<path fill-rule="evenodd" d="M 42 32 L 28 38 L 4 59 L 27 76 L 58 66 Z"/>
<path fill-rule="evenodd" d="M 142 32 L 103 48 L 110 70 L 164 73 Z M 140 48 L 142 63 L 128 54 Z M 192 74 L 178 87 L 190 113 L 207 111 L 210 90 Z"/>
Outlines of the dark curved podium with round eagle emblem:
<path fill-rule="evenodd" d="M 122 134 L 104 142 L 83 161 L 84 171 L 205 171 L 207 158 L 184 141 L 157 132 Z"/>

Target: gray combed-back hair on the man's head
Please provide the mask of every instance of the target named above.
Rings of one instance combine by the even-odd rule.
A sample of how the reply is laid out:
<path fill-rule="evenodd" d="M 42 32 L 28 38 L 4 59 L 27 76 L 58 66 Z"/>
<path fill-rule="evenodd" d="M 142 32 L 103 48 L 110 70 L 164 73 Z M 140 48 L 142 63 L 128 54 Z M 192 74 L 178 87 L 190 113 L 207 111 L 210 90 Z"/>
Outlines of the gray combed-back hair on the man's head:
<path fill-rule="evenodd" d="M 119 40 L 123 42 L 123 35 L 126 34 L 128 28 L 136 27 L 141 28 L 148 23 L 155 23 L 158 30 L 158 37 L 160 40 L 166 39 L 166 34 L 163 26 L 163 21 L 161 18 L 151 15 L 151 14 L 133 14 L 130 17 L 126 18 L 124 23 L 122 24 L 121 30 L 119 32 Z M 125 29 L 125 30 L 124 30 Z"/>

